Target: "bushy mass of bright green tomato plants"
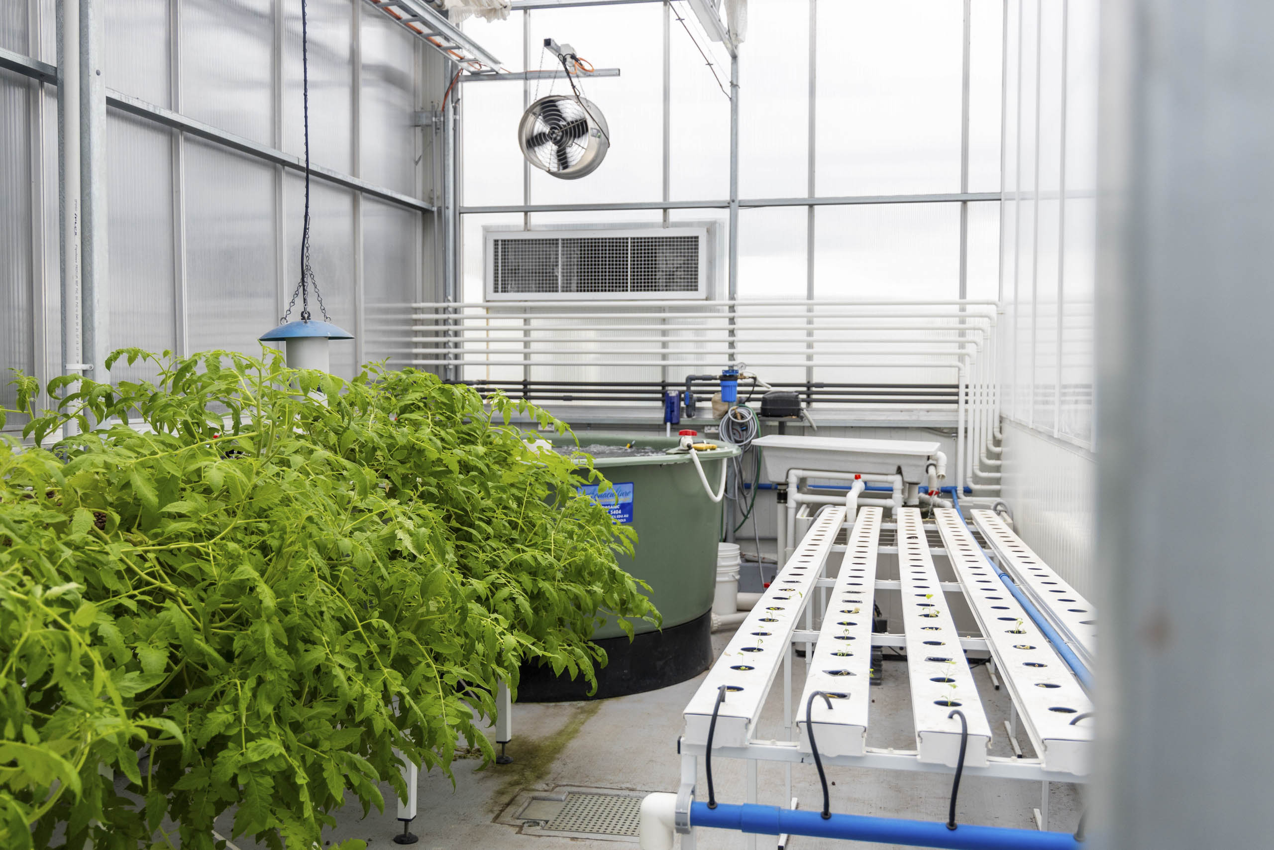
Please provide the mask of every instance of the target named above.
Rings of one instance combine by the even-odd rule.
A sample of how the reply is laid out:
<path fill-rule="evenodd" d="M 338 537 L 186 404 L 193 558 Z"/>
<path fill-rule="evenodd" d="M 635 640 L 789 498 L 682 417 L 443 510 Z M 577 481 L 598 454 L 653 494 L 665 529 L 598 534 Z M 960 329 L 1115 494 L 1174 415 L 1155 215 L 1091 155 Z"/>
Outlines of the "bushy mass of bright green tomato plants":
<path fill-rule="evenodd" d="M 347 793 L 405 793 L 397 753 L 490 758 L 524 660 L 592 682 L 595 624 L 657 622 L 615 559 L 632 533 L 508 426 L 567 429 L 525 401 L 274 353 L 121 357 L 158 377 L 55 378 L 45 412 L 19 377 L 36 445 L 0 443 L 5 847 L 210 849 L 233 808 L 234 835 L 308 850 Z"/>

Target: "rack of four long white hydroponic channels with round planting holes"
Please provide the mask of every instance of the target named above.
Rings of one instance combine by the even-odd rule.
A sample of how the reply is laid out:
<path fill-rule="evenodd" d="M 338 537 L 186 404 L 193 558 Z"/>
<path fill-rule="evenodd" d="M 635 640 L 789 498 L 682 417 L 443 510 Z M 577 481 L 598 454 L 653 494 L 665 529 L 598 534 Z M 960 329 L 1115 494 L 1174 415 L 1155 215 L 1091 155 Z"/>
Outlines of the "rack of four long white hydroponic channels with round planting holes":
<path fill-rule="evenodd" d="M 749 618 L 713 665 L 685 707 L 685 734 L 678 748 L 682 758 L 678 817 L 683 803 L 688 807 L 694 798 L 698 760 L 707 753 L 707 730 L 722 684 L 734 689 L 727 692 L 717 715 L 712 739 L 713 772 L 720 775 L 724 760 L 743 760 L 749 779 L 749 803 L 757 802 L 753 781 L 757 762 L 780 762 L 789 770 L 794 763 L 813 765 L 806 733 L 810 717 L 805 715 L 805 702 L 815 691 L 843 695 L 832 700 L 831 709 L 819 700 L 814 701 L 815 739 L 826 767 L 953 772 L 961 742 L 959 721 L 947 716 L 950 707 L 935 703 L 954 700 L 962 703 L 959 710 L 968 721 L 964 776 L 1034 781 L 1041 782 L 1043 789 L 1049 782 L 1087 781 L 1092 758 L 1092 721 L 1085 719 L 1071 725 L 1071 720 L 1092 711 L 1092 705 L 1066 664 L 1004 590 L 957 512 L 938 508 L 936 524 L 924 522 L 920 510 L 915 507 L 899 512 L 896 526 L 899 581 L 875 577 L 878 554 L 887 549 L 879 545 L 879 533 L 893 525 L 883 522 L 882 516 L 880 507 L 859 508 L 846 544 L 841 547 L 832 542 L 845 521 L 845 507 L 826 510 L 753 612 L 771 612 L 773 622 L 761 616 Z M 943 537 L 941 551 L 930 548 L 926 540 L 926 530 L 935 526 Z M 814 577 L 833 548 L 845 553 L 840 575 L 834 579 Z M 950 561 L 957 582 L 938 580 L 933 561 L 935 554 Z M 815 587 L 829 587 L 832 591 L 822 628 L 798 630 L 796 622 L 810 613 L 809 600 L 815 596 L 810 591 Z M 873 635 L 873 590 L 893 589 L 903 594 L 905 633 Z M 968 600 L 981 626 L 981 637 L 956 632 L 945 598 L 956 593 L 962 593 Z M 781 610 L 776 612 L 777 607 Z M 1001 617 L 1010 617 L 1013 622 L 1001 621 Z M 758 646 L 757 632 L 764 632 L 761 637 L 766 642 L 759 645 L 764 651 L 744 652 L 744 647 Z M 934 645 L 934 641 L 939 644 Z M 755 721 L 780 665 L 785 666 L 785 719 L 789 738 L 794 737 L 790 724 L 791 647 L 795 644 L 815 644 L 805 692 L 795 714 L 800 739 L 758 739 L 754 735 Z M 846 650 L 846 646 L 854 649 Z M 915 749 L 866 746 L 871 709 L 870 678 L 866 675 L 870 646 L 907 649 Z M 991 652 L 995 669 L 1003 675 L 1013 700 L 1014 716 L 1022 719 L 1036 757 L 987 753 L 992 731 L 962 650 Z M 930 655 L 941 660 L 930 660 Z M 948 658 L 950 661 L 945 660 Z M 950 683 L 933 681 L 947 678 L 956 679 L 954 696 L 948 687 Z M 1055 707 L 1070 711 L 1055 711 Z M 775 802 L 789 805 L 792 804 L 790 798 L 787 793 L 782 800 Z M 1046 817 L 1041 812 L 1041 819 Z M 683 850 L 694 849 L 693 830 L 683 832 L 680 846 Z"/>

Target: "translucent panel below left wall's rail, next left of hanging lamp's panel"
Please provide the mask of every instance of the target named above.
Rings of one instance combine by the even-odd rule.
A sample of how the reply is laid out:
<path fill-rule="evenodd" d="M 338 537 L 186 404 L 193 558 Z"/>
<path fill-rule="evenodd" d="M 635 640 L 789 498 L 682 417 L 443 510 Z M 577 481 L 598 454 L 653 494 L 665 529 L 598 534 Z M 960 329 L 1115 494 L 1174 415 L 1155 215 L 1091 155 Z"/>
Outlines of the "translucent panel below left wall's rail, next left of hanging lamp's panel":
<path fill-rule="evenodd" d="M 279 324 L 274 168 L 186 143 L 186 280 L 190 350 L 261 350 Z M 290 250 L 290 246 L 289 246 Z"/>

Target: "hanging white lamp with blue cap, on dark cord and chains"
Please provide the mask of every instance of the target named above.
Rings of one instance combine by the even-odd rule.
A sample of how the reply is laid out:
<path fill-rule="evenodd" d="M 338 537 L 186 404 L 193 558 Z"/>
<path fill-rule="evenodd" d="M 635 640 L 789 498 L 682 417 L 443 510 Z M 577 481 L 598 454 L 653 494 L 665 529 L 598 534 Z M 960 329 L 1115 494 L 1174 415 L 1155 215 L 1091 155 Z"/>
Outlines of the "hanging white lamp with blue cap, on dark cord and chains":
<path fill-rule="evenodd" d="M 259 339 L 262 343 L 282 342 L 283 356 L 292 368 L 330 372 L 329 342 L 353 339 L 354 336 L 331 324 L 327 307 L 322 303 L 322 293 L 318 291 L 313 268 L 310 265 L 310 32 L 306 11 L 306 0 L 301 0 L 301 92 L 304 102 L 306 136 L 306 217 L 301 231 L 301 279 L 292 292 L 292 301 L 288 302 L 288 311 L 279 320 L 279 326 L 266 331 Z M 318 302 L 322 321 L 310 315 L 311 289 L 315 301 Z M 297 297 L 301 298 L 301 319 L 288 321 L 288 316 L 297 306 Z"/>

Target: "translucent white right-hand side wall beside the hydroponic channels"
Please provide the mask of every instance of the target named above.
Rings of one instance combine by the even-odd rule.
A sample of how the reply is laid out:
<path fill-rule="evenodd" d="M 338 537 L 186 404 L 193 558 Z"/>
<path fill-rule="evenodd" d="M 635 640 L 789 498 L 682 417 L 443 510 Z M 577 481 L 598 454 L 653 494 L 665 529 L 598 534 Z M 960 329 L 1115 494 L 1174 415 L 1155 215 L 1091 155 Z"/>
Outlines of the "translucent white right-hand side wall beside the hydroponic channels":
<path fill-rule="evenodd" d="M 1001 494 L 1091 593 L 1098 0 L 1008 5 Z"/>

